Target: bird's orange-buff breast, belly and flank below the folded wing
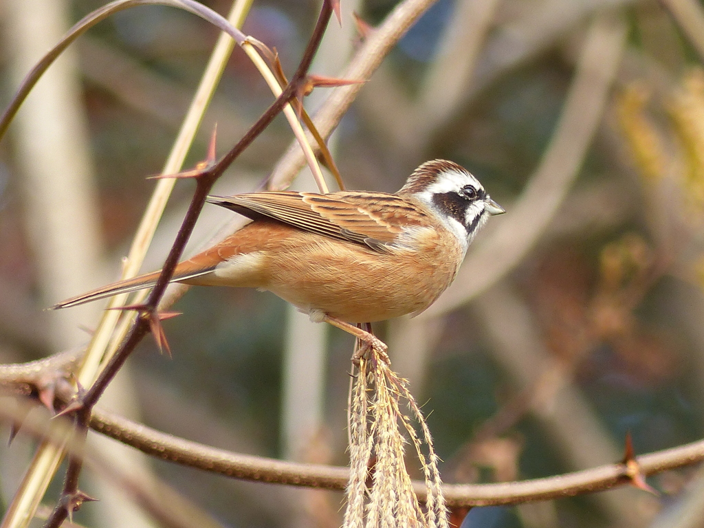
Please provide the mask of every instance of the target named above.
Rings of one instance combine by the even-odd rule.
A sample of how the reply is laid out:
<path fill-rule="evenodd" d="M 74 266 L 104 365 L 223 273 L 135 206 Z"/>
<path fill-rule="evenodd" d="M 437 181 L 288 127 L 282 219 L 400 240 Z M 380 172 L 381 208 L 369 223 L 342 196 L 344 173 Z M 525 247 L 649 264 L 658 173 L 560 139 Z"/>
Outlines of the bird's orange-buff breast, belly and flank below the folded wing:
<path fill-rule="evenodd" d="M 244 227 L 225 245 L 239 251 L 213 273 L 185 282 L 268 290 L 303 312 L 351 323 L 425 310 L 451 284 L 463 258 L 461 249 L 435 236 L 422 251 L 382 253 L 263 222 Z"/>

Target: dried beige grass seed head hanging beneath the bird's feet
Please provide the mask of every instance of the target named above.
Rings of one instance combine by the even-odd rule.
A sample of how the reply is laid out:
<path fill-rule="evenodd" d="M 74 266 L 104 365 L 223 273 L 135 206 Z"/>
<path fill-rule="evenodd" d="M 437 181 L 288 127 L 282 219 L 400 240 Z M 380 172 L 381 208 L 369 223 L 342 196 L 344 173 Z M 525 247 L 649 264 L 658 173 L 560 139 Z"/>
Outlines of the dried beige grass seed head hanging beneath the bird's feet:
<path fill-rule="evenodd" d="M 408 391 L 408 382 L 372 354 L 371 358 L 360 360 L 351 399 L 350 478 L 344 526 L 448 527 L 439 459 L 420 408 Z M 402 413 L 401 399 L 408 403 L 420 424 L 422 439 L 410 418 Z M 425 477 L 425 513 L 406 470 L 406 439 L 399 421 L 415 447 Z M 424 443 L 428 455 L 423 452 Z M 367 485 L 369 472 L 372 482 Z"/>

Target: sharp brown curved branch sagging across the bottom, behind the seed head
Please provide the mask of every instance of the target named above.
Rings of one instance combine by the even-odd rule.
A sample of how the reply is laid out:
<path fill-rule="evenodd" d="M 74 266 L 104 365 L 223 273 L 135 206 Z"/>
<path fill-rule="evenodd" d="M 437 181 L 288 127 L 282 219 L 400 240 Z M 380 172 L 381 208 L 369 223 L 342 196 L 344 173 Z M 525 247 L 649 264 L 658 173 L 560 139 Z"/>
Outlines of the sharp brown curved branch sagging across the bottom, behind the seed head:
<path fill-rule="evenodd" d="M 347 467 L 301 464 L 232 453 L 158 432 L 105 410 L 94 410 L 90 427 L 148 455 L 227 477 L 339 491 L 347 485 Z M 641 471 L 646 475 L 702 460 L 704 440 L 637 458 Z M 510 505 L 611 489 L 630 482 L 626 471 L 623 464 L 610 464 L 522 482 L 444 484 L 443 491 L 451 506 Z M 414 487 L 420 498 L 425 497 L 424 483 L 415 482 Z"/>

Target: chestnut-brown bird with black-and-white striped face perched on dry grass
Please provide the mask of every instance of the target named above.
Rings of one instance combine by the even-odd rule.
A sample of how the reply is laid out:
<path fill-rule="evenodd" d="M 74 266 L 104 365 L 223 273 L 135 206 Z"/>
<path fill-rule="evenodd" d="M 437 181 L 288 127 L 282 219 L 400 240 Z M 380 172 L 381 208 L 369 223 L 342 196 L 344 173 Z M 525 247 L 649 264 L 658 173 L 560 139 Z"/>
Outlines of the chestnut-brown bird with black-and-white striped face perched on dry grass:
<path fill-rule="evenodd" d="M 251 221 L 179 263 L 171 282 L 271 291 L 383 354 L 386 345 L 358 325 L 428 308 L 455 279 L 486 220 L 505 213 L 468 170 L 439 159 L 420 165 L 394 194 L 260 191 L 208 202 Z M 153 287 L 160 273 L 52 308 Z"/>

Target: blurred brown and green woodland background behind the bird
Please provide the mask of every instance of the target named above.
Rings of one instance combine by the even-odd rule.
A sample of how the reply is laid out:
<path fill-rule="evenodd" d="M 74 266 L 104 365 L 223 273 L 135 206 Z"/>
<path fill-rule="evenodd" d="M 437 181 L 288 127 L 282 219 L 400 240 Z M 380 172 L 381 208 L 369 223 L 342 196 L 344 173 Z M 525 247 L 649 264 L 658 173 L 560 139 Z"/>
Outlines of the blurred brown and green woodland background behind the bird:
<path fill-rule="evenodd" d="M 101 5 L 0 2 L 2 106 L 65 29 Z M 313 73 L 337 75 L 357 49 L 352 11 L 373 28 L 396 2 L 342 5 Z M 290 74 L 318 8 L 255 1 L 244 32 L 275 46 Z M 428 416 L 446 482 L 613 463 L 627 432 L 636 453 L 702 436 L 703 12 L 696 0 L 439 0 L 342 120 L 332 145 L 348 188 L 395 191 L 423 161 L 447 158 L 508 211 L 436 306 L 376 327 Z M 145 177 L 161 170 L 216 38 L 187 13 L 130 9 L 81 37 L 27 101 L 0 143 L 1 363 L 87 341 L 100 303 L 44 310 L 118 277 L 153 189 Z M 187 166 L 204 157 L 215 122 L 222 153 L 271 100 L 236 50 Z M 214 194 L 256 188 L 290 142 L 277 119 Z M 294 183 L 312 186 L 305 173 Z M 177 184 L 144 271 L 161 267 L 192 189 Z M 232 218 L 213 209 L 195 245 Z M 183 315 L 164 325 L 173 358 L 145 340 L 104 406 L 220 448 L 346 464 L 351 337 L 247 289 L 191 289 L 176 308 Z M 0 447 L 3 507 L 31 453 L 27 439 Z M 170 484 L 200 526 L 341 523 L 339 493 L 127 453 L 120 465 Z M 696 467 L 658 474 L 648 479 L 658 497 L 619 489 L 476 508 L 464 526 L 700 526 L 703 477 Z M 84 478 L 101 502 L 79 522 L 154 525 L 99 475 Z M 56 496 L 54 486 L 47 503 Z"/>

